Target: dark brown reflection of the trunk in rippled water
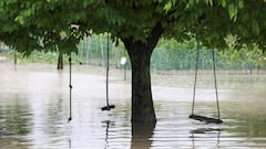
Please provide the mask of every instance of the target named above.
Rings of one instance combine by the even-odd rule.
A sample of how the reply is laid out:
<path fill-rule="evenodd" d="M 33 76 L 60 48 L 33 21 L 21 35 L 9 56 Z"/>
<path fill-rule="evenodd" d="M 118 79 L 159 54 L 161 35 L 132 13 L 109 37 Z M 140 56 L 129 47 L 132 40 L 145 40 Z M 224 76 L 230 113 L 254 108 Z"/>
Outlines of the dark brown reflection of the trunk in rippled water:
<path fill-rule="evenodd" d="M 155 125 L 132 123 L 131 149 L 150 149 Z"/>

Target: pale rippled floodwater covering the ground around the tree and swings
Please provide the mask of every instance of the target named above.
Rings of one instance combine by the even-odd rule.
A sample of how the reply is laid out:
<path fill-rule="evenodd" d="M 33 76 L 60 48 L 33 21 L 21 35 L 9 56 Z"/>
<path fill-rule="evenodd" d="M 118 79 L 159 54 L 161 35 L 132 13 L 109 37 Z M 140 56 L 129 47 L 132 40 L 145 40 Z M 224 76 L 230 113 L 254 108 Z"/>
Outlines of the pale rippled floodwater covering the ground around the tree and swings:
<path fill-rule="evenodd" d="M 72 117 L 69 74 L 53 65 L 0 64 L 0 148 L 2 149 L 213 149 L 266 148 L 266 75 L 217 76 L 222 125 L 188 119 L 194 76 L 152 75 L 157 124 L 131 125 L 131 84 L 110 71 L 105 106 L 104 68 L 73 66 Z M 127 72 L 127 74 L 130 74 Z M 216 117 L 213 76 L 198 76 L 195 113 Z M 132 136 L 132 134 L 134 134 Z"/>

